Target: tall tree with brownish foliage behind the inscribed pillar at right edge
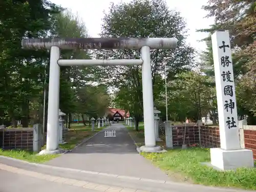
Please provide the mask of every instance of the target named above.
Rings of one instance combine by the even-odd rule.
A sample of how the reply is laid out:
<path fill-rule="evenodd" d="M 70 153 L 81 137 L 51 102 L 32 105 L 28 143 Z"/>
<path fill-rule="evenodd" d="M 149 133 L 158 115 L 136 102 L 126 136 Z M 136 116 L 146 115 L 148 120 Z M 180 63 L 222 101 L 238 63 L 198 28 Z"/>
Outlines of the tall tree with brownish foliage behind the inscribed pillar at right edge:
<path fill-rule="evenodd" d="M 208 5 L 203 6 L 203 9 L 208 11 L 208 17 L 215 16 L 215 25 L 210 29 L 199 31 L 212 33 L 215 30 L 224 29 L 230 32 L 234 78 L 237 85 L 238 114 L 241 118 L 248 116 L 249 123 L 256 123 L 256 119 L 252 117 L 253 114 L 256 115 L 254 104 L 256 102 L 254 89 L 256 86 L 254 78 L 256 72 L 254 57 L 256 54 L 256 4 L 250 0 L 209 0 Z"/>

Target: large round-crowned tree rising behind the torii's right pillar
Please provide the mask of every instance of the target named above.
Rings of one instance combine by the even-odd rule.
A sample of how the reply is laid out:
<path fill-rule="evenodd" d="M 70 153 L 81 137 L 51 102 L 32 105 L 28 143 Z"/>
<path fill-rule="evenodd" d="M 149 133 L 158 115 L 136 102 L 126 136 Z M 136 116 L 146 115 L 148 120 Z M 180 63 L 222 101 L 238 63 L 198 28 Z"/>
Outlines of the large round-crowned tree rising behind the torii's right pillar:
<path fill-rule="evenodd" d="M 194 49 L 186 45 L 186 24 L 176 11 L 169 11 L 163 0 L 133 0 L 129 3 L 111 4 L 110 11 L 103 17 L 101 37 L 176 37 L 178 47 L 175 50 L 151 50 L 154 99 L 157 99 L 163 86 L 161 74 L 166 65 L 168 78 L 187 70 L 193 65 Z M 140 50 L 99 50 L 99 59 L 138 59 Z M 130 113 L 138 121 L 143 114 L 141 67 L 122 66 L 99 67 L 99 80 L 109 86 L 124 91 L 130 99 Z M 108 79 L 107 81 L 105 79 Z M 120 97 L 124 94 L 119 94 Z M 120 100 L 120 99 L 119 99 Z M 121 104 L 121 103 L 119 103 Z"/>

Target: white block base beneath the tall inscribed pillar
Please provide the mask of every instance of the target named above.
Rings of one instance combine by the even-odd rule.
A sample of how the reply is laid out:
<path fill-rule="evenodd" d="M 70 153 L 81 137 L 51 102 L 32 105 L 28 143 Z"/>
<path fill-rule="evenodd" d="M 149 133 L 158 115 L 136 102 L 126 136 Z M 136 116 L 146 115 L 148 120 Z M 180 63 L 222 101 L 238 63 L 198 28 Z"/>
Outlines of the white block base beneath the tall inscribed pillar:
<path fill-rule="evenodd" d="M 210 159 L 211 165 L 221 170 L 254 167 L 252 151 L 245 148 L 241 148 L 240 150 L 210 148 Z"/>

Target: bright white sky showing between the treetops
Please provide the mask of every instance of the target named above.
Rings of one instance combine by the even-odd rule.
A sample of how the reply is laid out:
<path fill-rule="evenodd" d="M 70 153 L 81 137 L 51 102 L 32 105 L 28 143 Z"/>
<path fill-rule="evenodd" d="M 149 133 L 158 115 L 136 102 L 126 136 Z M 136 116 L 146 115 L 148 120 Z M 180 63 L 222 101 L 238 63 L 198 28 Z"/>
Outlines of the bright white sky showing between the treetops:
<path fill-rule="evenodd" d="M 122 2 L 129 2 L 123 0 Z M 78 14 L 88 28 L 91 37 L 99 37 L 100 26 L 102 24 L 103 11 L 108 11 L 110 3 L 118 3 L 120 0 L 51 0 L 52 3 L 70 9 L 74 14 Z M 207 0 L 167 0 L 167 5 L 171 10 L 176 10 L 184 17 L 187 28 L 187 43 L 193 46 L 198 52 L 205 50 L 205 42 L 199 42 L 207 36 L 207 33 L 196 32 L 197 29 L 208 28 L 214 24 L 214 18 L 204 18 L 207 14 L 201 7 L 207 4 Z"/>

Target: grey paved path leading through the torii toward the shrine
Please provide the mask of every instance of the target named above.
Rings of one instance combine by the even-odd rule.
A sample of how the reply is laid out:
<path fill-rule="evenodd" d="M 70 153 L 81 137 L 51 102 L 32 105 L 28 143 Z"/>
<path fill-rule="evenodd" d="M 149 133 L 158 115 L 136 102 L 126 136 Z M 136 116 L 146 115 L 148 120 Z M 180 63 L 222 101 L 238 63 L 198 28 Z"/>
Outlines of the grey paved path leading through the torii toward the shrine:
<path fill-rule="evenodd" d="M 116 137 L 105 138 L 105 130 L 116 130 Z M 113 124 L 105 130 L 72 152 L 46 164 L 121 176 L 170 180 L 160 169 L 138 154 L 124 125 Z"/>

